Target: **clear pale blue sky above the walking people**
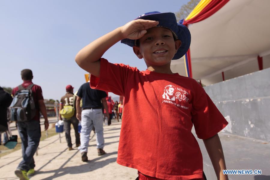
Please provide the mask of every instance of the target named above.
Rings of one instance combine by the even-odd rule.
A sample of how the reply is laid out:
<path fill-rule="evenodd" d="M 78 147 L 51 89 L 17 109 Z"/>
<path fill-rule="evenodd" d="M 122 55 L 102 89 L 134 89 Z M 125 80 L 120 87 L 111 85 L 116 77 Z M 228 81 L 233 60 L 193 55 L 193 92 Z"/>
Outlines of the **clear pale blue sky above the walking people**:
<path fill-rule="evenodd" d="M 0 1 L 0 86 L 22 83 L 20 71 L 31 69 L 33 83 L 45 99 L 60 99 L 66 85 L 85 83 L 74 58 L 95 39 L 151 11 L 177 12 L 188 0 Z M 131 47 L 120 42 L 103 58 L 145 70 Z M 116 95 L 109 93 L 112 97 Z"/>

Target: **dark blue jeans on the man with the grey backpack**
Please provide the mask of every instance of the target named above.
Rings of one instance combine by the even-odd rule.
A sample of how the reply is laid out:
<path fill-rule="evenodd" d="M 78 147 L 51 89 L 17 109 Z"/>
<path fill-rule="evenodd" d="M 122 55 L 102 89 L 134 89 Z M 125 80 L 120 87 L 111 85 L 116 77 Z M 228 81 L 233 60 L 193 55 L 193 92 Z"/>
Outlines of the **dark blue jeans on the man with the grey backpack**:
<path fill-rule="evenodd" d="M 19 135 L 22 140 L 22 161 L 17 169 L 29 171 L 34 169 L 34 154 L 38 149 L 41 129 L 38 121 L 17 122 Z"/>

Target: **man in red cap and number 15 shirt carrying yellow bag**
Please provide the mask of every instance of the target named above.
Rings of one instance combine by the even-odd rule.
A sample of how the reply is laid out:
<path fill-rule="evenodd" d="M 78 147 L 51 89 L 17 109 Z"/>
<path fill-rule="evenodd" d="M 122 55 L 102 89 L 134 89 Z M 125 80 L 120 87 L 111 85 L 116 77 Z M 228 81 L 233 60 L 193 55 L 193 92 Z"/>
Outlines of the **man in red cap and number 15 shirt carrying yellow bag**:
<path fill-rule="evenodd" d="M 73 125 L 76 138 L 76 147 L 80 146 L 80 135 L 78 133 L 79 121 L 76 118 L 76 96 L 73 94 L 72 85 L 67 85 L 66 94 L 60 100 L 59 119 L 63 119 L 64 130 L 68 150 L 73 150 L 70 137 L 70 124 Z"/>

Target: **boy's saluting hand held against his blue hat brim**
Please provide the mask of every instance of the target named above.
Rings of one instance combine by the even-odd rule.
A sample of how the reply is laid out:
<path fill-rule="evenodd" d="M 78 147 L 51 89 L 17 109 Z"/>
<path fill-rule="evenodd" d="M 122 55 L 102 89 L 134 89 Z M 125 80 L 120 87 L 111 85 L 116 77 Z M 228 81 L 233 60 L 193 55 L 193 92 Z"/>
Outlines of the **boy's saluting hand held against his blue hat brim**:
<path fill-rule="evenodd" d="M 140 39 L 146 34 L 146 30 L 158 25 L 158 21 L 136 19 L 121 27 L 122 38 Z"/>

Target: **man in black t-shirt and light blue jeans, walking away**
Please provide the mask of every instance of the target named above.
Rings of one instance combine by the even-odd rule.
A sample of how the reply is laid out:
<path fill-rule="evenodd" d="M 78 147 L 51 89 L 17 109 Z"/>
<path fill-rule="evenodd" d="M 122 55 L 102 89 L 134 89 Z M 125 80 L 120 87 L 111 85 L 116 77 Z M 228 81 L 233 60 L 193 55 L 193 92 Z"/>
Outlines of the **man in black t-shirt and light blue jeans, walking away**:
<path fill-rule="evenodd" d="M 90 88 L 89 82 L 81 85 L 77 92 L 76 98 L 76 117 L 81 121 L 82 129 L 80 135 L 81 146 L 79 150 L 82 155 L 82 161 L 88 161 L 87 151 L 90 132 L 95 127 L 95 133 L 97 135 L 97 149 L 98 155 L 104 155 L 106 152 L 104 148 L 104 137 L 103 137 L 103 114 L 102 114 L 102 104 L 108 112 L 108 106 L 106 102 L 107 94 L 104 91 L 95 90 Z M 82 108 L 80 107 L 80 100 L 82 99 Z M 102 101 L 102 104 L 101 104 Z M 106 113 L 109 119 L 109 114 Z"/>

